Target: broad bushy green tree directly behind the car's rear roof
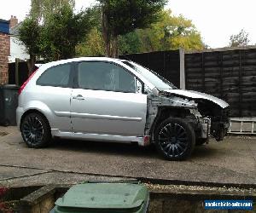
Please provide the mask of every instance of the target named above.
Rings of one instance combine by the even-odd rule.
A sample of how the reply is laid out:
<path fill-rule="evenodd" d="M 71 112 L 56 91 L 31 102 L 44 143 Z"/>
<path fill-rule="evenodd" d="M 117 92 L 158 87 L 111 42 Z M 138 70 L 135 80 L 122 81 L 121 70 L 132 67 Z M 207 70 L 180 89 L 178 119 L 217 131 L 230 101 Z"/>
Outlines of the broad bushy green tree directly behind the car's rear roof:
<path fill-rule="evenodd" d="M 67 59 L 76 54 L 75 47 L 83 41 L 93 26 L 94 20 L 90 12 L 90 9 L 86 9 L 74 14 L 72 7 L 64 4 L 57 13 L 47 17 L 40 47 L 45 60 Z"/>

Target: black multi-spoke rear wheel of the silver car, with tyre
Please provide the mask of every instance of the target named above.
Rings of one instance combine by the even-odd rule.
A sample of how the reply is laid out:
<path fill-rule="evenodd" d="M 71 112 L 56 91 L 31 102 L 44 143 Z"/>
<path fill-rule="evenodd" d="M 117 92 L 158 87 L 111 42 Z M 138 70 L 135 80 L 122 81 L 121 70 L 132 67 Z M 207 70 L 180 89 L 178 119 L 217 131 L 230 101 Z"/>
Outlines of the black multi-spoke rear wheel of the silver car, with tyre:
<path fill-rule="evenodd" d="M 30 148 L 46 147 L 51 141 L 49 123 L 39 113 L 27 114 L 21 121 L 20 131 L 27 147 Z"/>

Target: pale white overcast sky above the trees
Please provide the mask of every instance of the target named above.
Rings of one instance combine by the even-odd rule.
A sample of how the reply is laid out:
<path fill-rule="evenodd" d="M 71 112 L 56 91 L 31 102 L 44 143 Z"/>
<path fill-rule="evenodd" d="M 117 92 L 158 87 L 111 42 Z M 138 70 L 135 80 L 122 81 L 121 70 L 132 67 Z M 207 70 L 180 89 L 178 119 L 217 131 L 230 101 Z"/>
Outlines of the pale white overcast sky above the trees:
<path fill-rule="evenodd" d="M 30 9 L 30 0 L 0 0 L 0 19 L 15 15 L 23 20 Z M 95 0 L 76 0 L 76 9 L 89 7 Z M 169 0 L 167 9 L 183 14 L 201 32 L 204 43 L 211 48 L 229 44 L 230 36 L 244 29 L 250 44 L 256 44 L 255 0 Z"/>

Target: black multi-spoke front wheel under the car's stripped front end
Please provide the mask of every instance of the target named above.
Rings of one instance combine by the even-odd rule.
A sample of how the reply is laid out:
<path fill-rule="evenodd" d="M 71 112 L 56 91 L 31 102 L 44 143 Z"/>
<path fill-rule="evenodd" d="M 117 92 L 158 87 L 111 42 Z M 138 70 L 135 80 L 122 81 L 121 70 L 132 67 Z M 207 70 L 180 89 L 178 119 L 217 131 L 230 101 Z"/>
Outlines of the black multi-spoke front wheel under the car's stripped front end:
<path fill-rule="evenodd" d="M 181 118 L 167 118 L 154 132 L 158 152 L 169 160 L 188 158 L 195 147 L 195 131 Z"/>

